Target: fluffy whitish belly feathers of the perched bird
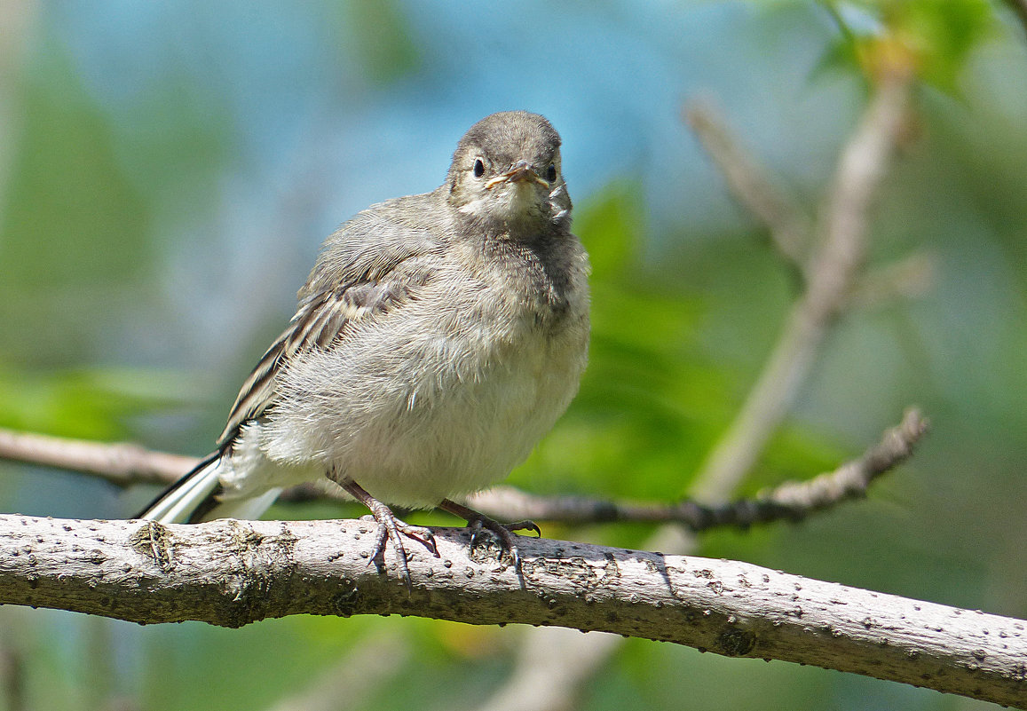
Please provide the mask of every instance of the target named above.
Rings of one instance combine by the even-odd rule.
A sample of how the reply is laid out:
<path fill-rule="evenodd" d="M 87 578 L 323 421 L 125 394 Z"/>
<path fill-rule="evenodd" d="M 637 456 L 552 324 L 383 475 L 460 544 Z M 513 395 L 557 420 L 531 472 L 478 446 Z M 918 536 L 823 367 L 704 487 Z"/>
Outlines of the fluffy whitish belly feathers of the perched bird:
<path fill-rule="evenodd" d="M 497 300 L 468 320 L 482 300 L 440 290 L 291 364 L 278 404 L 241 432 L 225 497 L 334 471 L 386 503 L 427 508 L 524 461 L 577 391 L 587 295 L 550 331 Z M 443 301 L 451 308 L 432 308 Z"/>

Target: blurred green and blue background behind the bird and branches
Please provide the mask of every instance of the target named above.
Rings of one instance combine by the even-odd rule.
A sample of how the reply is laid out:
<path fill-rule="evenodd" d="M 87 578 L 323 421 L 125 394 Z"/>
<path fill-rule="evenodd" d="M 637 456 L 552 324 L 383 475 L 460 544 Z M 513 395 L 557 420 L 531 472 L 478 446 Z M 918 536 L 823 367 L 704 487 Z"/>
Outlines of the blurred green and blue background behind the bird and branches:
<path fill-rule="evenodd" d="M 837 325 L 743 493 L 833 469 L 910 404 L 931 433 L 866 500 L 705 534 L 698 553 L 1027 618 L 1025 26 L 1022 0 L 2 0 L 0 426 L 206 453 L 321 239 L 372 202 L 431 190 L 471 123 L 523 108 L 564 138 L 595 329 L 580 396 L 510 483 L 675 500 L 797 295 L 682 108 L 716 107 L 813 216 L 867 104 L 867 48 L 895 41 L 914 58 L 915 108 L 869 262 L 930 268 L 911 295 Z M 6 512 L 121 518 L 154 493 L 0 462 Z M 652 533 L 543 528 L 618 546 Z M 391 618 L 140 627 L 4 607 L 0 709 L 473 708 L 526 634 Z M 626 640 L 571 707 L 987 705 Z"/>

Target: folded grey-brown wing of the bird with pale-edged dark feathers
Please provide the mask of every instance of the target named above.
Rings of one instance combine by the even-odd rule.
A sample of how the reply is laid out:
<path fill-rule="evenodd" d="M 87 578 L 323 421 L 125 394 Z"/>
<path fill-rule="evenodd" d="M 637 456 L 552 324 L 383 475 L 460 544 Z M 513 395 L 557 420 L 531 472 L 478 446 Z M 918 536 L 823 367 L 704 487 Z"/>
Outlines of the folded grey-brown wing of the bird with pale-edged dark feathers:
<path fill-rule="evenodd" d="M 329 347 L 347 325 L 394 310 L 407 300 L 412 288 L 428 277 L 423 267 L 401 265 L 409 265 L 411 258 L 439 252 L 442 241 L 438 233 L 413 228 L 404 224 L 406 220 L 390 220 L 388 212 L 366 211 L 326 241 L 317 264 L 300 290 L 296 315 L 242 384 L 228 423 L 218 438 L 219 448 L 230 447 L 239 427 L 260 417 L 274 403 L 277 373 L 291 359 L 313 348 Z"/>

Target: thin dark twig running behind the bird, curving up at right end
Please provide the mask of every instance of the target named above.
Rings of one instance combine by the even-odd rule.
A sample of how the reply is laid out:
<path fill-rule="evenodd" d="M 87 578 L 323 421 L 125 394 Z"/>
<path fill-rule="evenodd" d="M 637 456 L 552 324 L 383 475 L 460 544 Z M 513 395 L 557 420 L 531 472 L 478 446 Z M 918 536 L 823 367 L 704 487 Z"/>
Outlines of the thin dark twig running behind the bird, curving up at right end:
<path fill-rule="evenodd" d="M 468 503 L 505 521 L 677 523 L 693 531 L 722 526 L 748 527 L 781 519 L 797 520 L 813 511 L 865 494 L 877 476 L 909 457 L 925 429 L 926 421 L 918 410 L 911 409 L 900 425 L 885 433 L 878 445 L 834 472 L 809 481 L 786 482 L 753 499 L 715 506 L 691 500 L 671 504 L 629 503 L 587 496 L 537 496 L 510 486 L 498 486 L 473 494 L 468 497 Z M 0 458 L 83 472 L 119 486 L 154 481 L 169 483 L 198 461 L 132 444 L 68 440 L 2 428 Z M 341 496 L 335 489 L 304 485 L 287 491 L 283 497 L 301 501 Z"/>

